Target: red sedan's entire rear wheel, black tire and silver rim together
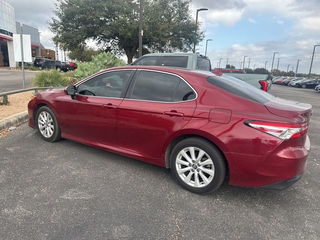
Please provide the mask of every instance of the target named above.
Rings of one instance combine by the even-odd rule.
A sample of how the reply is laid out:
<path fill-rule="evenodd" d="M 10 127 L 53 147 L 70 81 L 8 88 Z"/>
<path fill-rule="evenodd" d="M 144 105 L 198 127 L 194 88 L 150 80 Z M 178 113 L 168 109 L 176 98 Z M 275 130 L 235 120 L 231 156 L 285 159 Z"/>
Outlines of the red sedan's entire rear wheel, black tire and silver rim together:
<path fill-rule="evenodd" d="M 170 168 L 175 180 L 185 189 L 209 193 L 223 182 L 226 166 L 216 146 L 204 139 L 189 137 L 172 149 Z"/>

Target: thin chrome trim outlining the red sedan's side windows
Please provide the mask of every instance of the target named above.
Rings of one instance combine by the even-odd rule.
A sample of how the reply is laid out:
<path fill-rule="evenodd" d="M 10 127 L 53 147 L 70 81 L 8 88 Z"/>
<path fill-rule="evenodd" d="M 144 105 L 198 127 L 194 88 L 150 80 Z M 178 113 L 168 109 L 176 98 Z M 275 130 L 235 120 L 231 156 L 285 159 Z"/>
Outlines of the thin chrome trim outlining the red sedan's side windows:
<path fill-rule="evenodd" d="M 193 101 L 196 100 L 196 98 L 198 97 L 198 93 L 196 92 L 196 90 L 181 76 L 175 74 L 175 73 L 171 73 L 171 72 L 167 72 L 167 71 L 160 71 L 160 70 L 151 70 L 151 69 L 142 69 L 142 68 L 127 68 L 127 69 L 115 69 L 115 70 L 109 70 L 109 71 L 103 71 L 99 74 L 96 74 L 88 79 L 86 79 L 83 82 L 80 82 L 78 84 L 76 84 L 75 86 L 78 86 L 84 82 L 86 82 L 87 80 L 92 79 L 95 76 L 101 75 L 103 73 L 107 73 L 107 72 L 112 72 L 112 71 L 119 71 L 119 70 L 141 70 L 141 71 L 154 71 L 154 72 L 160 72 L 160 73 L 165 73 L 165 74 L 169 74 L 169 75 L 174 75 L 179 77 L 181 80 L 183 80 L 194 92 L 195 92 L 195 98 L 190 99 L 190 100 L 186 100 L 186 101 L 152 101 L 152 100 L 141 100 L 141 99 L 131 99 L 131 98 L 122 98 L 122 97 L 109 97 L 109 96 L 88 96 L 88 95 L 82 95 L 79 93 L 75 93 L 75 95 L 79 95 L 79 96 L 86 96 L 86 97 L 101 97 L 101 98 L 111 98 L 111 99 L 126 99 L 126 100 L 132 100 L 132 101 L 147 101 L 147 102 L 159 102 L 159 103 L 181 103 L 181 102 L 188 102 L 188 101 Z"/>

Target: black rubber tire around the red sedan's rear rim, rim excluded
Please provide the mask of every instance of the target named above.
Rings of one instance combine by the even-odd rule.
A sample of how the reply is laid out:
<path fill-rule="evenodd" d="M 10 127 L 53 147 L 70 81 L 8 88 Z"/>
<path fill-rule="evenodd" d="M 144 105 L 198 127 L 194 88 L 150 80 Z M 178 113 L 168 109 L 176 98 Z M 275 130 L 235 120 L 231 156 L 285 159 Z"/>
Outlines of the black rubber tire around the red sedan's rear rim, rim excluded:
<path fill-rule="evenodd" d="M 194 187 L 191 185 L 188 185 L 186 182 L 184 182 L 181 177 L 179 176 L 177 169 L 176 169 L 176 158 L 178 157 L 179 152 L 186 148 L 186 147 L 196 147 L 201 150 L 203 150 L 212 160 L 213 167 L 214 167 L 214 175 L 211 181 L 201 187 Z M 190 166 L 190 165 L 189 165 Z M 193 165 L 192 165 L 193 167 Z M 223 155 L 220 153 L 218 148 L 214 146 L 209 141 L 199 138 L 199 137 L 189 137 L 186 138 L 179 143 L 177 143 L 174 148 L 171 151 L 170 154 L 170 168 L 172 171 L 172 174 L 174 176 L 175 181 L 180 184 L 185 189 L 195 192 L 195 193 L 209 193 L 214 191 L 216 188 L 218 188 L 221 183 L 223 182 L 225 178 L 225 172 L 226 172 L 226 164 Z M 183 169 L 183 168 L 181 168 Z M 196 169 L 198 170 L 198 169 Z M 193 171 L 195 172 L 195 170 Z M 190 173 L 190 172 L 189 172 Z M 194 179 L 194 176 L 193 176 Z M 195 182 L 195 180 L 194 180 Z M 203 183 L 202 183 L 203 184 Z"/>

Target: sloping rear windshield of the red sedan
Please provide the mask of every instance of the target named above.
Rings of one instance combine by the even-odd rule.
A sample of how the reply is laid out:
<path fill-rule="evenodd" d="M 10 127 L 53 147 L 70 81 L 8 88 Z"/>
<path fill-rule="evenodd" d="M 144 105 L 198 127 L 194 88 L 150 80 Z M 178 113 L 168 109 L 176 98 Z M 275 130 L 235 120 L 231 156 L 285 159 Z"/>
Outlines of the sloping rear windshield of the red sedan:
<path fill-rule="evenodd" d="M 264 104 L 275 98 L 275 96 L 235 77 L 230 78 L 229 76 L 209 76 L 206 79 L 212 85 L 261 104 Z"/>

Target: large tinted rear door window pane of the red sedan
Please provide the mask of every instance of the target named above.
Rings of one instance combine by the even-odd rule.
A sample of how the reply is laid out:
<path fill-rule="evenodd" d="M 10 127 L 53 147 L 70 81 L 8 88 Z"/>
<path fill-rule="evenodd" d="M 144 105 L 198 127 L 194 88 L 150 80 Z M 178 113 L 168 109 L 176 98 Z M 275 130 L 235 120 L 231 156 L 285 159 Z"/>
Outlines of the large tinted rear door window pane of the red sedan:
<path fill-rule="evenodd" d="M 171 102 L 180 78 L 155 71 L 140 71 L 131 99 Z"/>

